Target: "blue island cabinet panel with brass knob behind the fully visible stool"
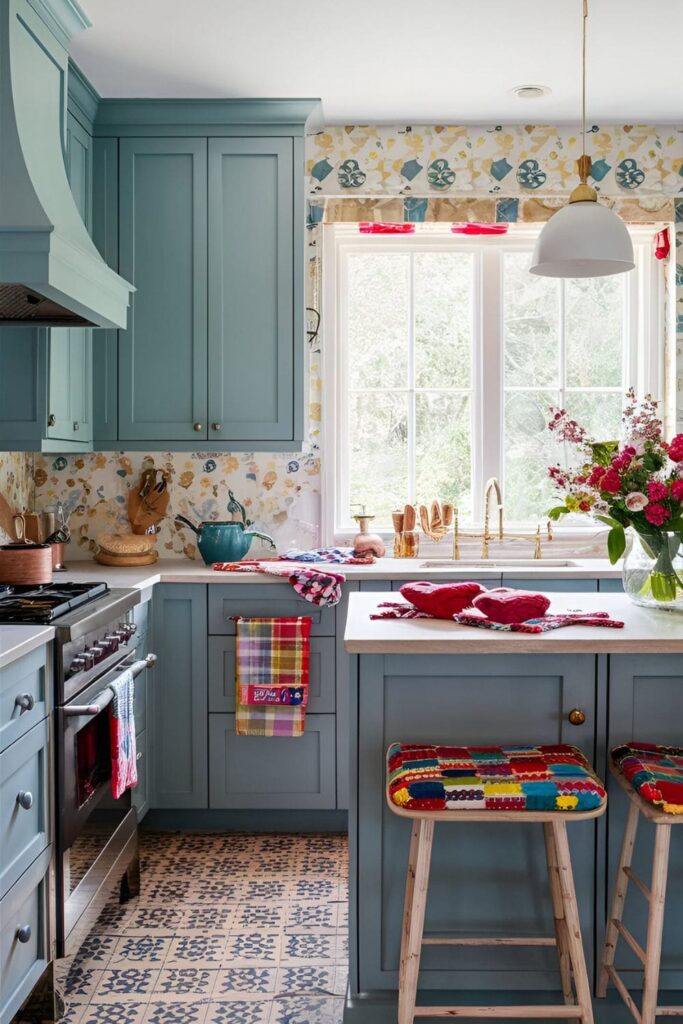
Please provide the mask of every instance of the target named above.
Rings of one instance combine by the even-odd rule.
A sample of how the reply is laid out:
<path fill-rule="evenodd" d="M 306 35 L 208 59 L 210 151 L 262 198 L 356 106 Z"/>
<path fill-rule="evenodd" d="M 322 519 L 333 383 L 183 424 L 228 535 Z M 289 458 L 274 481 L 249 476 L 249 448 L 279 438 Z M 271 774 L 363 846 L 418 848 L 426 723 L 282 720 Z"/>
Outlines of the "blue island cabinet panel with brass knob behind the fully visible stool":
<path fill-rule="evenodd" d="M 592 655 L 367 654 L 358 658 L 357 820 L 351 837 L 357 948 L 351 976 L 360 991 L 397 985 L 410 821 L 385 803 L 385 755 L 404 742 L 556 743 L 595 746 Z M 569 724 L 572 708 L 586 712 Z M 353 816 L 353 815 L 352 815 Z M 569 824 L 569 843 L 590 965 L 595 906 L 595 823 Z M 465 936 L 553 934 L 541 825 L 437 824 L 426 932 Z M 555 950 L 428 947 L 428 989 L 557 989 Z M 356 974 L 357 972 L 357 974 Z M 355 987 L 355 986 L 353 986 Z"/>

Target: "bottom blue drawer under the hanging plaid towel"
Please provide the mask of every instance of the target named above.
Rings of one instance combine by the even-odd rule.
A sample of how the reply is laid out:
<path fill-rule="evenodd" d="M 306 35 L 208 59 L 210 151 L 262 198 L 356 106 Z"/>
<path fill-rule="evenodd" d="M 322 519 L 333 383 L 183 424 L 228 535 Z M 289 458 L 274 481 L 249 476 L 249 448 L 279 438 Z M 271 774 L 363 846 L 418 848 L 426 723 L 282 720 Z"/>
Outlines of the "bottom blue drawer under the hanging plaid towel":
<path fill-rule="evenodd" d="M 307 715 L 303 736 L 238 736 L 234 715 L 209 715 L 209 807 L 336 806 L 335 717 Z"/>

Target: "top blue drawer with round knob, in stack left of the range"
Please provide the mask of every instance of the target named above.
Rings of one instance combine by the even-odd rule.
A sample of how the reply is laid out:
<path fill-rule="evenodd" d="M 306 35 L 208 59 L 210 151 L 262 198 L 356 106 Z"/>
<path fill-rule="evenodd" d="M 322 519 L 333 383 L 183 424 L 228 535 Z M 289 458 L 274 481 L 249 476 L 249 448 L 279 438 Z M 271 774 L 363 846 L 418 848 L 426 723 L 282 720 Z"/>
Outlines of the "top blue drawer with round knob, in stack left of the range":
<path fill-rule="evenodd" d="M 13 743 L 50 711 L 46 644 L 0 669 L 0 751 Z M 26 698 L 27 710 L 20 701 Z"/>

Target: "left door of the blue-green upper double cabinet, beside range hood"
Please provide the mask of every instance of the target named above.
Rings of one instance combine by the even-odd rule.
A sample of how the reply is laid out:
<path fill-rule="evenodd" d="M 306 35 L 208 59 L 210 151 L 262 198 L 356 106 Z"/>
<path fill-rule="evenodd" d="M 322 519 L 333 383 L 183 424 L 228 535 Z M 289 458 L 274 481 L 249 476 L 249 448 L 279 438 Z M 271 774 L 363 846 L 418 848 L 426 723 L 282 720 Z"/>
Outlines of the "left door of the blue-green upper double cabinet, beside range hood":
<path fill-rule="evenodd" d="M 124 138 L 119 271 L 135 285 L 119 334 L 119 437 L 207 436 L 206 139 Z"/>

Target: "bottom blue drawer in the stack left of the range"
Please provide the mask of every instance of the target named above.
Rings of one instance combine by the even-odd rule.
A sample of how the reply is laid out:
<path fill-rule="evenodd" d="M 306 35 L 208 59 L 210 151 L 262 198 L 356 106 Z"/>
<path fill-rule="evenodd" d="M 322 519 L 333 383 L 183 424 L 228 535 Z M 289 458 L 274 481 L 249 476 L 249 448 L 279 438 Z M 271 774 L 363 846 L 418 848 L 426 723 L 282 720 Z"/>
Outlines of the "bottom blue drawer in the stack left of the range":
<path fill-rule="evenodd" d="M 9 1024 L 47 967 L 51 854 L 48 847 L 0 900 L 0 1024 Z"/>

